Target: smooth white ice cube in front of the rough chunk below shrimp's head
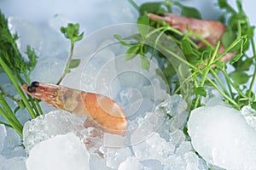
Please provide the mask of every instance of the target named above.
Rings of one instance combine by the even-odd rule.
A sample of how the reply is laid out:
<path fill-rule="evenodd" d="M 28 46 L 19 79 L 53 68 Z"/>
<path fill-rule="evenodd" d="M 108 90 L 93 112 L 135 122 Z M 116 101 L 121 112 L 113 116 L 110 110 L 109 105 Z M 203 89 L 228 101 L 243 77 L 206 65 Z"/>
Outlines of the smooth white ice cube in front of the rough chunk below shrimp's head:
<path fill-rule="evenodd" d="M 57 135 L 36 144 L 26 160 L 27 170 L 89 170 L 89 152 L 73 133 Z"/>

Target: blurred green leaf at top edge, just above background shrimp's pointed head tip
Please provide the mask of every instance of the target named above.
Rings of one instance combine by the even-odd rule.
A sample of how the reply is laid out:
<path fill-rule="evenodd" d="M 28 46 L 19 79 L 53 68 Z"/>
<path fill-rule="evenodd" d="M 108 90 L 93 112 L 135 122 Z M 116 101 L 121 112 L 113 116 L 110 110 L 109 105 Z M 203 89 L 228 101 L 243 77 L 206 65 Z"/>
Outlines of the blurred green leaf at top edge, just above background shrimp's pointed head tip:
<path fill-rule="evenodd" d="M 139 13 L 141 15 L 143 14 L 148 14 L 148 13 L 154 13 L 154 14 L 159 14 L 161 11 L 161 5 L 163 3 L 143 3 L 140 8 L 139 8 Z"/>

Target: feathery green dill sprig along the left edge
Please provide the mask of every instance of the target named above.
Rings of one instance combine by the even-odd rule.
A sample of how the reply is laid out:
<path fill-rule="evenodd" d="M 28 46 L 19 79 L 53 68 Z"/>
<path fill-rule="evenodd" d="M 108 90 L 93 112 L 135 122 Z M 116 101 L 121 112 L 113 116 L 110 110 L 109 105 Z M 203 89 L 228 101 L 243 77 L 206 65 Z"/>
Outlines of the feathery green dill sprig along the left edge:
<path fill-rule="evenodd" d="M 0 122 L 6 126 L 15 128 L 16 132 L 22 135 L 22 125 L 15 116 L 15 112 L 20 109 L 27 109 L 32 118 L 43 114 L 38 99 L 32 99 L 26 96 L 20 88 L 20 85 L 30 84 L 30 75 L 37 64 L 37 55 L 34 50 L 27 46 L 26 54 L 28 60 L 24 59 L 16 45 L 18 35 L 10 33 L 8 21 L 0 12 L 0 74 L 6 74 L 19 97 L 8 94 L 4 88 L 0 87 L 0 113 L 8 123 Z M 15 101 L 17 107 L 13 111 L 6 98 Z"/>

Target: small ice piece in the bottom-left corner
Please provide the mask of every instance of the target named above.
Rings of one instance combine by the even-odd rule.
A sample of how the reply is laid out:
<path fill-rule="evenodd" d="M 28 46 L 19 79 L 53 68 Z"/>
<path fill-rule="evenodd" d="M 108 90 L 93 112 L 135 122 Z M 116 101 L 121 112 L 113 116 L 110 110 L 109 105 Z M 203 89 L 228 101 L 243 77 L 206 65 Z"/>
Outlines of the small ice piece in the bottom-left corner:
<path fill-rule="evenodd" d="M 12 157 L 0 164 L 0 170 L 26 170 L 26 157 Z"/>

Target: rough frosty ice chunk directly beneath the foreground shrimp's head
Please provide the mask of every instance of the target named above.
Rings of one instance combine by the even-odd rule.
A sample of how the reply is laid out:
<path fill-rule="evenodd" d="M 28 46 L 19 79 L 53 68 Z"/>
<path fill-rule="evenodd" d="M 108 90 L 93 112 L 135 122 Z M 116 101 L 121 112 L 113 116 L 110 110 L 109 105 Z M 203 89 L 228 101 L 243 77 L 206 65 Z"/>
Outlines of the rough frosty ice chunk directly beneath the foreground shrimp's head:
<path fill-rule="evenodd" d="M 84 130 L 83 120 L 67 111 L 51 111 L 38 116 L 23 127 L 23 144 L 26 150 L 31 150 L 35 144 L 49 139 L 57 134 L 73 132 L 80 136 Z"/>

